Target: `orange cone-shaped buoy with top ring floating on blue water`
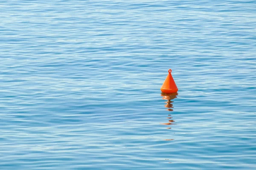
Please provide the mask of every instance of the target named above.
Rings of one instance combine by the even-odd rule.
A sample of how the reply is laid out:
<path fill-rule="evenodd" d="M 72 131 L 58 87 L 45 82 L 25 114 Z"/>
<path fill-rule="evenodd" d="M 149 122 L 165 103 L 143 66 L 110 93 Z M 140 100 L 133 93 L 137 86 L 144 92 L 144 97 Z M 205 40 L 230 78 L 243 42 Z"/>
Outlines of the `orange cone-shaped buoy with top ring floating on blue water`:
<path fill-rule="evenodd" d="M 172 70 L 168 70 L 169 74 L 166 77 L 166 80 L 163 82 L 163 85 L 161 87 L 161 91 L 163 93 L 176 93 L 178 91 L 177 85 L 175 84 L 174 79 L 172 78 Z"/>

